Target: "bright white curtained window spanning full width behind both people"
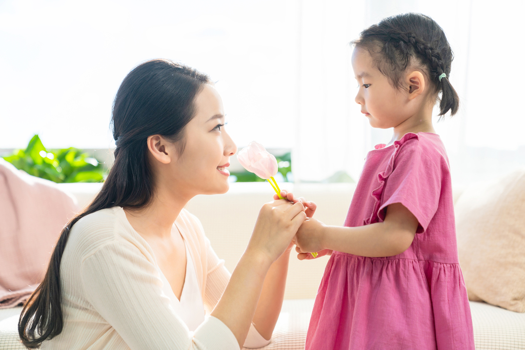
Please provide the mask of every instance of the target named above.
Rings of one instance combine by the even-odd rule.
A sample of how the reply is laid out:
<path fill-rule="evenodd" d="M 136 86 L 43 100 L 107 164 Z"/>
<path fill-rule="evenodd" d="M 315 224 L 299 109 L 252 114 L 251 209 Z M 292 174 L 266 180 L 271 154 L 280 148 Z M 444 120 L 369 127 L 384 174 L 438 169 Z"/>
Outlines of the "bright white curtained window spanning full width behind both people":
<path fill-rule="evenodd" d="M 217 81 L 239 147 L 292 150 L 298 182 L 357 180 L 390 140 L 354 102 L 349 42 L 382 18 L 419 12 L 443 27 L 460 111 L 435 124 L 455 182 L 525 165 L 523 2 L 511 0 L 67 0 L 0 2 L 0 149 L 107 149 L 111 103 L 137 63 L 166 57 Z M 436 113 L 437 114 L 437 113 Z M 341 178 L 341 177 L 339 177 Z"/>

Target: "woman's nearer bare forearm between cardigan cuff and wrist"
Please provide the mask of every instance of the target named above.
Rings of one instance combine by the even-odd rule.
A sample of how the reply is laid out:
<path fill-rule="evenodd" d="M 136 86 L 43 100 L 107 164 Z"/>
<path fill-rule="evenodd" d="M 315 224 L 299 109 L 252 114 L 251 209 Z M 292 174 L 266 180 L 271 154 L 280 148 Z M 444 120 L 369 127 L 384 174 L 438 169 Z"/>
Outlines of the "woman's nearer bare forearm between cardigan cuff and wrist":
<path fill-rule="evenodd" d="M 271 261 L 268 257 L 247 250 L 240 258 L 226 290 L 211 313 L 232 331 L 239 347 L 242 347 L 246 340 L 270 266 Z"/>

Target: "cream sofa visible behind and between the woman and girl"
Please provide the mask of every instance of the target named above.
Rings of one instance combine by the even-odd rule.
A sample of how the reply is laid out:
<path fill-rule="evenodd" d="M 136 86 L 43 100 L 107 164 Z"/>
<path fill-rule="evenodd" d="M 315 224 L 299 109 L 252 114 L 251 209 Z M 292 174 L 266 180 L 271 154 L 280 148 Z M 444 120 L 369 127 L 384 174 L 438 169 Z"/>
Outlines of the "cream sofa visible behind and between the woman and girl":
<path fill-rule="evenodd" d="M 64 184 L 85 206 L 100 184 Z M 282 184 L 298 196 L 316 201 L 316 217 L 329 225 L 341 225 L 354 186 L 352 184 Z M 461 189 L 455 188 L 455 198 Z M 187 206 L 202 222 L 207 237 L 226 267 L 233 271 L 248 243 L 260 206 L 271 200 L 266 183 L 235 183 L 224 195 L 197 196 Z M 304 339 L 324 266 L 328 257 L 299 261 L 291 254 L 285 303 L 272 337 L 265 349 L 303 349 Z M 476 349 L 525 349 L 525 314 L 485 303 L 471 302 Z M 20 307 L 0 310 L 0 349 L 22 349 L 16 323 Z"/>

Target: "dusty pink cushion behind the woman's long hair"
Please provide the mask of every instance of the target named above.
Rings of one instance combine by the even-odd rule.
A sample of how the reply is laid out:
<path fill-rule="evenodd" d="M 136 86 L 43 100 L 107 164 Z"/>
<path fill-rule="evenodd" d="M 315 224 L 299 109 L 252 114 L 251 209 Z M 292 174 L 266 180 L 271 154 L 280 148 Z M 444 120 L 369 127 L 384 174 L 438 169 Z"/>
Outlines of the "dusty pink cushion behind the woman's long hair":
<path fill-rule="evenodd" d="M 35 290 L 60 231 L 77 210 L 76 199 L 54 182 L 0 158 L 0 308 Z"/>

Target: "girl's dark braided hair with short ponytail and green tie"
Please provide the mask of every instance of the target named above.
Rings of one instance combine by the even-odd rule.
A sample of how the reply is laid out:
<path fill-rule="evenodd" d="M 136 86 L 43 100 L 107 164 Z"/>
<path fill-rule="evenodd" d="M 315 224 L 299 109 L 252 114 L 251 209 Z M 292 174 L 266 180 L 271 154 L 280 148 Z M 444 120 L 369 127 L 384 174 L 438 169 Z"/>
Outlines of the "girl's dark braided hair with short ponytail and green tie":
<path fill-rule="evenodd" d="M 459 97 L 448 80 L 454 56 L 443 29 L 432 18 L 417 13 L 388 17 L 363 30 L 352 44 L 370 52 L 377 69 L 395 88 L 400 88 L 408 66 L 419 63 L 442 93 L 439 115 L 458 111 Z M 446 77 L 439 81 L 443 73 Z"/>

